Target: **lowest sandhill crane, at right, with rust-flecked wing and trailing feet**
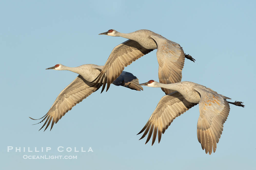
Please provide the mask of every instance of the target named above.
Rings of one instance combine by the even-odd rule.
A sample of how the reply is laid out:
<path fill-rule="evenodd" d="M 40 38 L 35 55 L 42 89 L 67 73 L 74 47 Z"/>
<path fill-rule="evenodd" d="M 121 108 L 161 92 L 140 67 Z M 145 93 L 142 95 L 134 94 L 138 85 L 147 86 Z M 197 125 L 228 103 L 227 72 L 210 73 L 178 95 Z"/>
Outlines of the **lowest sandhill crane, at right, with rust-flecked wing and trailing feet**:
<path fill-rule="evenodd" d="M 155 142 L 157 131 L 159 143 L 162 133 L 164 134 L 173 120 L 199 103 L 200 115 L 197 122 L 197 138 L 201 143 L 202 149 L 205 149 L 205 153 L 207 154 L 209 152 L 211 154 L 212 148 L 213 152 L 216 151 L 217 143 L 222 134 L 223 124 L 227 120 L 230 110 L 228 103 L 244 107 L 241 104 L 242 102 L 226 101 L 226 99 L 230 98 L 193 82 L 184 81 L 173 84 L 162 84 L 150 80 L 139 85 L 175 90 L 175 92 L 161 98 L 148 122 L 138 133 L 141 134 L 145 130 L 140 138 L 142 139 L 149 132 L 146 143 L 150 140 L 153 133 L 152 145 Z"/>

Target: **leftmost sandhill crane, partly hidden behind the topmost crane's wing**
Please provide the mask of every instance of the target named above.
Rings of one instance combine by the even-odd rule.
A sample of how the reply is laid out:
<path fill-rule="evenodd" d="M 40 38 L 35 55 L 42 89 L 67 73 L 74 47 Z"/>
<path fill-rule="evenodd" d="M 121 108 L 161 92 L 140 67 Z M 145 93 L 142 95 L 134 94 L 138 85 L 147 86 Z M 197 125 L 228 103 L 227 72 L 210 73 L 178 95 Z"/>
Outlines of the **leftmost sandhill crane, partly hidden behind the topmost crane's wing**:
<path fill-rule="evenodd" d="M 60 92 L 55 102 L 52 104 L 50 110 L 46 113 L 46 115 L 40 118 L 44 118 L 41 122 L 43 122 L 46 118 L 47 119 L 39 130 L 41 130 L 48 122 L 45 128 L 46 130 L 51 121 L 52 129 L 54 123 L 57 123 L 62 116 L 64 116 L 69 110 L 72 109 L 72 107 L 96 91 L 97 88 L 91 87 L 93 83 L 90 82 L 93 81 L 95 77 L 97 77 L 102 68 L 103 66 L 98 66 L 95 64 L 84 64 L 79 67 L 67 67 L 62 64 L 56 64 L 54 67 L 47 68 L 47 70 L 69 70 L 78 73 L 79 75 Z M 113 84 L 116 86 L 121 85 L 138 91 L 143 90 L 141 86 L 138 86 L 138 82 L 139 81 L 137 77 L 132 73 L 123 71 L 122 74 L 120 74 L 120 76 L 113 82 Z M 30 117 L 30 119 L 33 118 Z"/>

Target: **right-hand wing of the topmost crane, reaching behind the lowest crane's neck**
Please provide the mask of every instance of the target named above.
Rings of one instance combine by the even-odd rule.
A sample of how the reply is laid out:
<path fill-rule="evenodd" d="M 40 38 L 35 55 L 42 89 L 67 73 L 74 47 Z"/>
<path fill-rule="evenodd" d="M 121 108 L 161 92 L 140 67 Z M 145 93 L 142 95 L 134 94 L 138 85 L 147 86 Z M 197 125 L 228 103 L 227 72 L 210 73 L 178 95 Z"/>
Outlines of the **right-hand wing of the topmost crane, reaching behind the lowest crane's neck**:
<path fill-rule="evenodd" d="M 157 43 L 157 60 L 159 64 L 159 82 L 163 84 L 177 83 L 181 81 L 185 54 L 179 44 L 172 42 L 161 35 L 151 35 Z M 161 88 L 165 94 L 174 90 Z"/>

